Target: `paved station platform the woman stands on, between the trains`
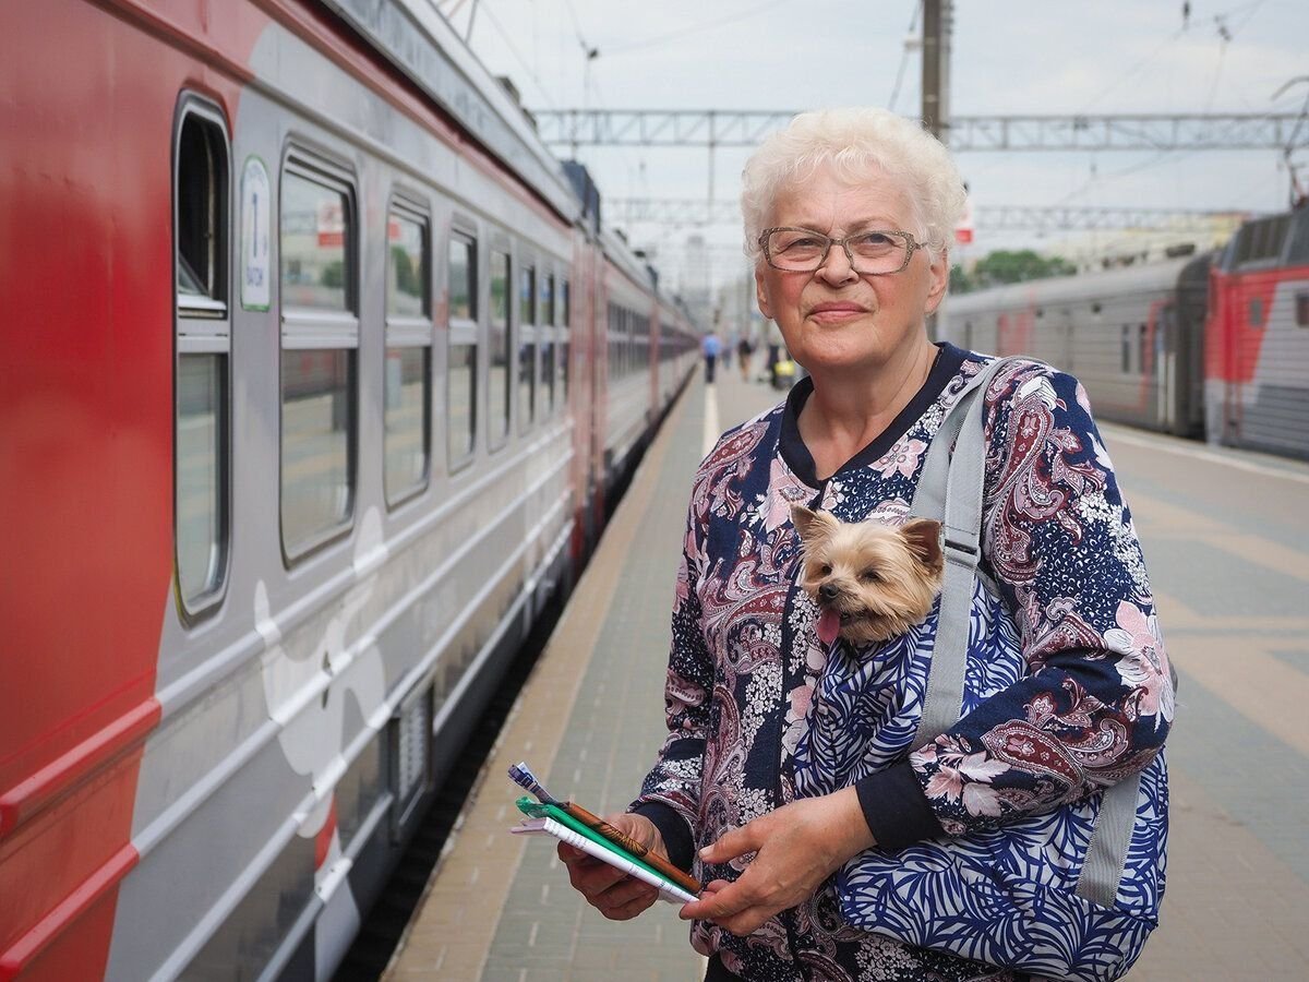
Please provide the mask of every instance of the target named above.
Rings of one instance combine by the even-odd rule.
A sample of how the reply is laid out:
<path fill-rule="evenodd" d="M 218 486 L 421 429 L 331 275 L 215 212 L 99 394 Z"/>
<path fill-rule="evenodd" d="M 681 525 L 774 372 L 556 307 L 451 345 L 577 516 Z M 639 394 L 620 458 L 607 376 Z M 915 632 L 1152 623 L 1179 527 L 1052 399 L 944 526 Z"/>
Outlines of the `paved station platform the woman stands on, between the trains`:
<path fill-rule="evenodd" d="M 724 365 L 723 369 L 726 369 Z M 525 759 L 556 795 L 623 808 L 664 735 L 668 611 L 690 479 L 767 385 L 698 376 L 641 462 L 456 825 L 387 982 L 692 982 L 673 905 L 611 923 L 551 839 L 522 841 Z M 1309 466 L 1103 427 L 1179 673 L 1162 924 L 1128 974 L 1309 977 Z"/>

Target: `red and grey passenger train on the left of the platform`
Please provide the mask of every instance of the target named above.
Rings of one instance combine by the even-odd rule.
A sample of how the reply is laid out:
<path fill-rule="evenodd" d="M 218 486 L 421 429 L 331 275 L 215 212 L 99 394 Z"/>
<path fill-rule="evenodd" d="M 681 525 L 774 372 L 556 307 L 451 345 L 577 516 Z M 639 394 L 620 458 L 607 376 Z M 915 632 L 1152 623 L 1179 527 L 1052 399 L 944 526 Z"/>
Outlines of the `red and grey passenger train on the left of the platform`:
<path fill-rule="evenodd" d="M 432 4 L 0 33 L 0 979 L 327 978 L 691 326 Z"/>

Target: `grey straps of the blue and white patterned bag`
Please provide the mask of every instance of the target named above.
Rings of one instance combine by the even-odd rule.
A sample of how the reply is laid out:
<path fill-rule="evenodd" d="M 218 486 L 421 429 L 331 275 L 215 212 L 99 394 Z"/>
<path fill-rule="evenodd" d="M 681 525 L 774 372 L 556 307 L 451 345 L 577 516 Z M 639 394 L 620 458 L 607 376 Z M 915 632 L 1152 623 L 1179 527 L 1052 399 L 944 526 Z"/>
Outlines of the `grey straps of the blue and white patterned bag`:
<path fill-rule="evenodd" d="M 941 522 L 945 554 L 941 609 L 923 694 L 923 715 L 912 744 L 915 748 L 935 740 L 963 715 L 973 592 L 982 558 L 982 490 L 986 477 L 982 410 L 991 380 L 1014 360 L 1018 359 L 996 359 L 969 380 L 932 439 L 914 492 L 910 513 Z M 1076 893 L 1083 900 L 1103 907 L 1114 905 L 1136 822 L 1139 787 L 1140 774 L 1134 774 L 1103 791 L 1086 860 L 1077 879 Z"/>

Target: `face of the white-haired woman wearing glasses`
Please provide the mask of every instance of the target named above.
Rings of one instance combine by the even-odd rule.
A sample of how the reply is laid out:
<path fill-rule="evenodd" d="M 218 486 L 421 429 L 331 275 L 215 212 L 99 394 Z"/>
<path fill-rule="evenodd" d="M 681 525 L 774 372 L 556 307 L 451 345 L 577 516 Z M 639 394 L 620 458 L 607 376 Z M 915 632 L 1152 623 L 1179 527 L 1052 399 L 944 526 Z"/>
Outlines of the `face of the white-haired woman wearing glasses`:
<path fill-rule="evenodd" d="M 795 225 L 844 238 L 856 232 L 918 234 L 908 195 L 876 174 L 857 185 L 821 169 L 801 185 L 784 187 L 772 203 L 768 227 Z M 914 250 L 906 268 L 860 275 L 846 251 L 833 246 L 816 272 L 783 272 L 759 262 L 759 310 L 772 318 L 800 364 L 816 376 L 876 371 L 897 354 L 925 343 L 924 319 L 941 302 L 946 258 L 929 262 Z"/>

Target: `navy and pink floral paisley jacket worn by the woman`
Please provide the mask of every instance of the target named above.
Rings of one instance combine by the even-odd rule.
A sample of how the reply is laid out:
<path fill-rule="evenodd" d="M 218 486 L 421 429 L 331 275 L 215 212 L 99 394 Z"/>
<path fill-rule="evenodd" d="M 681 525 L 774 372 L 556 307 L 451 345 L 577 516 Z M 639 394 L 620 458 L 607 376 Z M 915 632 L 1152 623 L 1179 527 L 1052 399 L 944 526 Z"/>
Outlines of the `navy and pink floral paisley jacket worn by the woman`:
<path fill-rule="evenodd" d="M 908 635 L 861 651 L 817 639 L 791 504 L 905 521 L 944 411 L 984 364 L 941 346 L 910 406 L 826 481 L 798 435 L 809 380 L 724 433 L 702 462 L 677 575 L 669 736 L 634 803 L 674 860 L 691 867 L 694 850 L 724 831 L 850 784 L 886 850 L 942 835 L 983 841 L 1147 767 L 1155 779 L 1143 779 L 1143 793 L 1166 816 L 1168 661 L 1131 516 L 1073 377 L 1018 361 L 984 393 L 982 572 L 995 589 L 975 591 L 958 724 L 911 745 L 935 610 Z M 1161 860 L 1162 833 L 1155 845 L 1136 889 L 1157 907 L 1162 877 L 1151 875 L 1162 864 L 1151 860 Z M 730 880 L 744 865 L 695 860 L 695 869 Z M 691 940 L 758 982 L 1024 978 L 856 930 L 830 881 L 749 937 L 696 922 Z"/>

